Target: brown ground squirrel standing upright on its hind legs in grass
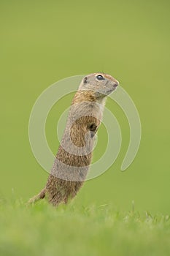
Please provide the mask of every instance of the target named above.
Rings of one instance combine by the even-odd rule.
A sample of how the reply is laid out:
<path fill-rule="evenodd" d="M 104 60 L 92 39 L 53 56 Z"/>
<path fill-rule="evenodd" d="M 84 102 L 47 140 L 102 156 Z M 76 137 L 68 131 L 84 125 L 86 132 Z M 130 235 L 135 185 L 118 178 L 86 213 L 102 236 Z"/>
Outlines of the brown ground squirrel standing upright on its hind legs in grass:
<path fill-rule="evenodd" d="M 104 73 L 93 73 L 82 79 L 47 184 L 29 203 L 47 196 L 53 206 L 58 206 L 77 195 L 88 173 L 106 98 L 118 84 L 115 78 Z"/>

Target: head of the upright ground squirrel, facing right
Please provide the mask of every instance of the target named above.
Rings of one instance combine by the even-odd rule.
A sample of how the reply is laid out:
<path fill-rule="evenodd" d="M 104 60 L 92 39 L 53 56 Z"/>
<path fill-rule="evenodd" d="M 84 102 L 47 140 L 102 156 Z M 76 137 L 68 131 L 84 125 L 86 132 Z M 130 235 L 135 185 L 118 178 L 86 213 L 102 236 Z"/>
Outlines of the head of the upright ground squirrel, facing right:
<path fill-rule="evenodd" d="M 79 89 L 92 91 L 96 98 L 104 98 L 115 91 L 118 85 L 119 82 L 111 75 L 93 73 L 82 79 Z"/>

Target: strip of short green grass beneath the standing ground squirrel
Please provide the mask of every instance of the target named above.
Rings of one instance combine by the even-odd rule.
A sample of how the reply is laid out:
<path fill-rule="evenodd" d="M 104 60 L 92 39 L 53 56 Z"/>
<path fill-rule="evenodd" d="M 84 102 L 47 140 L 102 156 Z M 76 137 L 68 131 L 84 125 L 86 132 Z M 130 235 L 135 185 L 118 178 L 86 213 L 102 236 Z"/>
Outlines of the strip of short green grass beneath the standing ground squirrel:
<path fill-rule="evenodd" d="M 0 255 L 169 255 L 170 216 L 109 205 L 0 204 Z"/>

